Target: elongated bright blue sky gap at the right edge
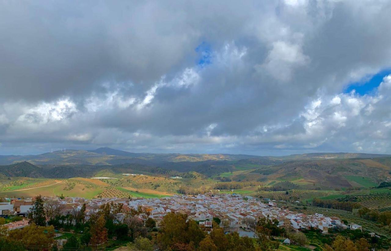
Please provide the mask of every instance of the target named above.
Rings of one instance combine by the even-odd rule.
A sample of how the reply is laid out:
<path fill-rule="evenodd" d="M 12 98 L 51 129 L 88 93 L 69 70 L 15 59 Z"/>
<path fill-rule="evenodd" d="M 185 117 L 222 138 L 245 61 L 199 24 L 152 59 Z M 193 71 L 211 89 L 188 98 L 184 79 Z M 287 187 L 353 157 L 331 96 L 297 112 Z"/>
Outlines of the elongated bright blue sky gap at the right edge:
<path fill-rule="evenodd" d="M 344 93 L 350 93 L 352 90 L 356 90 L 356 93 L 363 96 L 372 92 L 382 83 L 383 78 L 391 74 L 391 69 L 382 70 L 373 76 L 366 76 L 361 81 L 351 83 Z"/>

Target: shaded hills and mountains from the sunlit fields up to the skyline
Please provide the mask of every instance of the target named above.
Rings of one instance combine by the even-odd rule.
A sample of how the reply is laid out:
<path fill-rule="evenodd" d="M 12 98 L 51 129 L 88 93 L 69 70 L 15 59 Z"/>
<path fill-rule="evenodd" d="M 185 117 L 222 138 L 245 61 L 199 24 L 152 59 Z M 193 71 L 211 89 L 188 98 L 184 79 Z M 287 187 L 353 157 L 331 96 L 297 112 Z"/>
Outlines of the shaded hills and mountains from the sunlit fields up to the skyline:
<path fill-rule="evenodd" d="M 306 153 L 271 157 L 130 153 L 111 148 L 0 156 L 0 178 L 93 177 L 139 173 L 168 178 L 199 173 L 219 181 L 294 182 L 306 189 L 376 186 L 391 177 L 391 155 Z M 101 177 L 101 176 L 98 176 Z M 107 177 L 107 176 L 106 176 Z M 109 176 L 111 177 L 111 176 Z M 117 176 L 115 176 L 117 177 Z"/>

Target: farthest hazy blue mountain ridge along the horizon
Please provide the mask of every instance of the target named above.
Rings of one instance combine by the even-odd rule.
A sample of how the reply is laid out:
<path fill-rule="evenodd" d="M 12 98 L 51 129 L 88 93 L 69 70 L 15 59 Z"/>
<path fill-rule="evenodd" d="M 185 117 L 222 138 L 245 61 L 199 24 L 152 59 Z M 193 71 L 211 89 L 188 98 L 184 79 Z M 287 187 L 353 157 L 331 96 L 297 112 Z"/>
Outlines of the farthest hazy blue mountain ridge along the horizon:
<path fill-rule="evenodd" d="M 152 166 L 164 166 L 182 162 L 239 161 L 242 159 L 254 159 L 257 160 L 258 164 L 272 165 L 292 160 L 351 159 L 389 156 L 391 155 L 372 153 L 305 153 L 280 157 L 243 154 L 131 153 L 103 147 L 89 151 L 66 150 L 42 153 L 39 155 L 0 155 L 0 164 L 9 165 L 27 161 L 35 165 L 115 165 L 134 163 Z"/>

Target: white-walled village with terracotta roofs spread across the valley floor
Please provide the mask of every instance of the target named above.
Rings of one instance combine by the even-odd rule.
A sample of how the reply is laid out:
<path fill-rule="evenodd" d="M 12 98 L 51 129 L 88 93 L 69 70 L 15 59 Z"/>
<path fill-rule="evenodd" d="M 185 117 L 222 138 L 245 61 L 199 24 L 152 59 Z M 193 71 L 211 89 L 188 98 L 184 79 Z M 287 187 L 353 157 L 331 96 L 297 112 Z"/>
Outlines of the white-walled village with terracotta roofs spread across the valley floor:
<path fill-rule="evenodd" d="M 260 218 L 277 219 L 278 226 L 282 228 L 319 229 L 321 233 L 328 233 L 330 228 L 360 229 L 357 224 L 344 224 L 337 217 L 326 217 L 323 214 L 305 215 L 295 213 L 287 208 L 277 206 L 278 202 L 269 199 L 255 199 L 251 196 L 238 194 L 211 194 L 204 195 L 174 195 L 171 197 L 144 199 L 144 198 L 106 198 L 106 199 L 83 199 L 79 197 L 44 197 L 47 201 L 58 201 L 63 204 L 63 213 L 80 210 L 86 204 L 86 218 L 99 211 L 102 204 L 114 202 L 123 204 L 123 213 L 131 208 L 141 207 L 149 212 L 150 218 L 156 221 L 158 227 L 163 217 L 170 212 L 186 214 L 188 218 L 199 222 L 203 228 L 212 231 L 212 219 L 217 217 L 221 220 L 220 227 L 226 232 L 239 232 L 241 237 L 255 237 L 256 221 Z M 10 199 L 9 202 L 0 203 L 0 216 L 22 216 L 23 219 L 5 224 L 10 230 L 28 226 L 27 217 L 34 199 Z M 121 213 L 122 214 L 122 213 Z M 139 217 L 142 217 L 141 215 Z M 26 219 L 25 219 L 26 218 Z M 375 233 L 371 233 L 375 236 Z M 376 235 L 376 237 L 378 237 Z"/>

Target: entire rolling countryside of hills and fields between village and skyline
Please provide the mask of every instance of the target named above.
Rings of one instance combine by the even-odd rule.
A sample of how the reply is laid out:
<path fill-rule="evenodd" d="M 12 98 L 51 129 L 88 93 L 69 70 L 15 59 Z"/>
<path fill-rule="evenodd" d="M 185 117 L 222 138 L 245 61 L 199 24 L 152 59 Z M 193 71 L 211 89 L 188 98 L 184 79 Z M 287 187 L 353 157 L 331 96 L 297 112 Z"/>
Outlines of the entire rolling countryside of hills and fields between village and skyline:
<path fill-rule="evenodd" d="M 0 159 L 2 163 L 8 161 L 7 165 L 0 166 L 2 197 L 62 194 L 90 199 L 153 198 L 213 191 L 306 203 L 313 198 L 357 197 L 364 206 L 378 209 L 391 206 L 391 190 L 376 188 L 391 177 L 391 157 L 388 155 L 186 155 L 99 148 L 1 156 Z"/>

